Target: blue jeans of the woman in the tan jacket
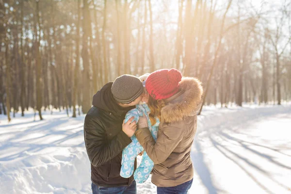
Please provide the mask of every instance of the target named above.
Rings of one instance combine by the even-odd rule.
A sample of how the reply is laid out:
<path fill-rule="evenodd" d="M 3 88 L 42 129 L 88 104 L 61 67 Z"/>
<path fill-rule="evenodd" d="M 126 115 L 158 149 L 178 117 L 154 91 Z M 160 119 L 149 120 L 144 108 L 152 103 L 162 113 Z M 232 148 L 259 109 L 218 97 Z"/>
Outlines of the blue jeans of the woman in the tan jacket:
<path fill-rule="evenodd" d="M 175 187 L 157 187 L 157 194 L 187 194 L 193 179 Z"/>

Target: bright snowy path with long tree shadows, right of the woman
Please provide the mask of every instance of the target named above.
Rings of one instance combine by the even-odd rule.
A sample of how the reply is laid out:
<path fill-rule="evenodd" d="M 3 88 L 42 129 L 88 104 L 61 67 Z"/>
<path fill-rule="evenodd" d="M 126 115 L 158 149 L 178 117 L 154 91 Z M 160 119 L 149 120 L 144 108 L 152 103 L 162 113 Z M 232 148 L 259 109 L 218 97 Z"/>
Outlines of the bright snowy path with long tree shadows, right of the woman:
<path fill-rule="evenodd" d="M 291 194 L 291 108 L 243 108 L 199 118 L 190 193 Z"/>

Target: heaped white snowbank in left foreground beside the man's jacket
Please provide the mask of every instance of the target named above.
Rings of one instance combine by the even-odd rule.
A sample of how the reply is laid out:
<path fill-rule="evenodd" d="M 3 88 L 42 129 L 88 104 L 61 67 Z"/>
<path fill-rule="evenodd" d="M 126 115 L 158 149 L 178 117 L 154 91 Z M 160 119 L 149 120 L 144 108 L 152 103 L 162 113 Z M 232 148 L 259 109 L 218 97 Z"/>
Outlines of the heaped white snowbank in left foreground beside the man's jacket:
<path fill-rule="evenodd" d="M 1 194 L 90 193 L 85 187 L 90 181 L 90 162 L 82 148 L 64 148 L 50 156 L 25 151 L 21 157 L 1 165 Z"/>

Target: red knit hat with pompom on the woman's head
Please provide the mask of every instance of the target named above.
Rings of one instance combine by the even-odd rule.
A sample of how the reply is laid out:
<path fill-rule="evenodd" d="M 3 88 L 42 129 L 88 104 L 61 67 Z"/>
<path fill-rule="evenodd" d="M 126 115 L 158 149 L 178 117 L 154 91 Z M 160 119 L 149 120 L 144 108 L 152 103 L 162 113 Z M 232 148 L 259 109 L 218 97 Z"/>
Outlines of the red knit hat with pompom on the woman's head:
<path fill-rule="evenodd" d="M 146 79 L 146 90 L 154 99 L 172 97 L 179 90 L 182 74 L 177 69 L 160 69 L 152 72 Z"/>

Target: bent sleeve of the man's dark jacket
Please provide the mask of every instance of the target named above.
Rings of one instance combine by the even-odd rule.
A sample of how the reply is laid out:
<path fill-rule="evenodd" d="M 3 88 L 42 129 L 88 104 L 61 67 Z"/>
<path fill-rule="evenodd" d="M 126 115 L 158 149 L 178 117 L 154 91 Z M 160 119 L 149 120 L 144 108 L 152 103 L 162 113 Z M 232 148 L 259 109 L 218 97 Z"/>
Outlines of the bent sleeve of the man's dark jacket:
<path fill-rule="evenodd" d="M 96 167 L 112 160 L 131 143 L 131 139 L 122 130 L 108 142 L 105 129 L 90 115 L 85 118 L 84 138 L 89 160 Z"/>

